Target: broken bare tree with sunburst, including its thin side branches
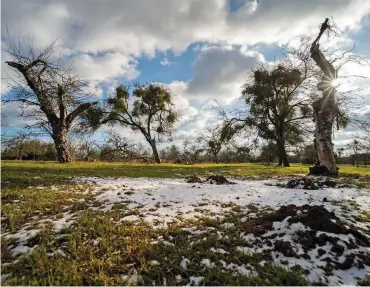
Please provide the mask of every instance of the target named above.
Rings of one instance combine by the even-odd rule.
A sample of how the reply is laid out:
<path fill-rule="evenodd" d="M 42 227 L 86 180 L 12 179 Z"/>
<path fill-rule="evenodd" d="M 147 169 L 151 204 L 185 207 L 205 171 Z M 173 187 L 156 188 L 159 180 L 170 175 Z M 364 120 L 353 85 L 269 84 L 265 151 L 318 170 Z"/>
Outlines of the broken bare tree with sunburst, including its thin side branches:
<path fill-rule="evenodd" d="M 339 129 L 340 126 L 345 127 L 349 122 L 357 121 L 356 118 L 350 117 L 348 111 L 353 99 L 360 92 L 359 89 L 338 92 L 336 88 L 339 79 L 338 70 L 348 62 L 354 62 L 360 65 L 369 63 L 355 55 L 355 47 L 348 51 L 336 52 L 333 55 L 325 57 L 319 45 L 319 41 L 325 31 L 328 32 L 328 35 L 332 33 L 335 36 L 340 36 L 335 23 L 332 22 L 329 24 L 329 19 L 326 18 L 321 24 L 320 32 L 312 42 L 310 48 L 310 56 L 321 71 L 317 89 L 322 93 L 322 97 L 316 99 L 312 104 L 315 121 L 315 148 L 318 157 L 317 166 L 320 167 L 316 171 L 321 170 L 321 172 L 337 175 L 338 168 L 335 162 L 332 142 L 333 127 L 335 122 Z M 334 64 L 337 68 L 334 68 Z M 356 77 L 356 75 L 353 76 Z M 315 173 L 315 168 L 311 168 L 310 171 L 311 173 Z"/>

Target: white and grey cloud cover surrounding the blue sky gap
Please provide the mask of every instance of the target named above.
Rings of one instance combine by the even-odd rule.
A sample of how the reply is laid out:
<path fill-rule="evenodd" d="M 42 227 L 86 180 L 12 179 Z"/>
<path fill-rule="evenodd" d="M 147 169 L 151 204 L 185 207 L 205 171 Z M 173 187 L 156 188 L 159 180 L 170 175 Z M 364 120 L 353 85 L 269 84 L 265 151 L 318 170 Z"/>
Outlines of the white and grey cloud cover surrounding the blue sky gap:
<path fill-rule="evenodd" d="M 179 135 L 189 137 L 209 123 L 210 115 L 199 105 L 209 99 L 230 104 L 240 95 L 247 68 L 265 61 L 258 52 L 248 51 L 249 45 L 292 44 L 302 35 L 316 35 L 328 15 L 343 31 L 358 31 L 370 13 L 367 0 L 244 2 L 230 13 L 228 0 L 215 0 L 212 5 L 204 0 L 3 0 L 2 33 L 8 27 L 13 36 L 30 36 L 38 47 L 61 37 L 58 52 L 74 60 L 78 73 L 91 82 L 97 95 L 102 93 L 100 82 L 137 77 L 135 59 L 143 54 L 153 57 L 169 49 L 181 53 L 192 43 L 205 43 L 199 45 L 193 79 L 168 85 L 178 96 L 182 114 Z M 352 42 L 345 37 L 338 41 L 332 40 L 331 45 L 343 48 Z M 3 67 L 4 59 L 2 53 Z M 170 63 L 167 58 L 161 61 Z M 370 74 L 366 67 L 351 65 L 340 73 L 353 71 Z M 2 68 L 2 78 L 3 73 Z M 370 101 L 369 80 L 353 81 L 349 87 L 363 88 L 362 96 Z M 6 91 L 3 81 L 1 89 Z"/>

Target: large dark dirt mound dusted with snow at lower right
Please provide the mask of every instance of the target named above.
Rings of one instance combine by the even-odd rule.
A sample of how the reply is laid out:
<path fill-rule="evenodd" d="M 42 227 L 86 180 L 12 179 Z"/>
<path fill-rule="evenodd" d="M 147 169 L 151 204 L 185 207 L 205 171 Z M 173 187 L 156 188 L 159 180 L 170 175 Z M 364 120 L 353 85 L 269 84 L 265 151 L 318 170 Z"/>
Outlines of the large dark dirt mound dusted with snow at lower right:
<path fill-rule="evenodd" d="M 334 269 L 370 267 L 370 237 L 323 206 L 282 206 L 276 212 L 247 221 L 244 230 L 244 234 L 252 233 L 255 238 L 249 242 L 251 248 L 267 246 L 263 253 L 272 256 L 274 252 L 281 264 L 293 264 L 295 258 L 320 262 L 315 268 L 328 275 Z"/>

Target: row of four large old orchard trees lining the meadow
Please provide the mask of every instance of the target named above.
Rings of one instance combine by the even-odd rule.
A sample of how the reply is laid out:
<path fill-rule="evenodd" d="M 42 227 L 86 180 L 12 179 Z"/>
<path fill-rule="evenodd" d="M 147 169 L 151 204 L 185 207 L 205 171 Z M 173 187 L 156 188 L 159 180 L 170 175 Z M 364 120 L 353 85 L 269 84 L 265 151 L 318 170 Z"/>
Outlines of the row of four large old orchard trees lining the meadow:
<path fill-rule="evenodd" d="M 335 173 L 333 126 L 339 129 L 356 122 L 348 113 L 356 91 L 338 93 L 337 72 L 345 63 L 363 62 L 354 56 L 353 49 L 324 57 L 318 41 L 325 30 L 331 31 L 333 27 L 327 19 L 312 43 L 310 39 L 303 39 L 298 48 L 287 49 L 282 60 L 251 69 L 241 90 L 244 105 L 231 112 L 215 106 L 222 124 L 209 127 L 194 143 L 186 142 L 179 158 L 172 160 L 196 162 L 202 158 L 218 162 L 239 161 L 243 157 L 243 160 L 251 160 L 251 150 L 259 143 L 260 158 L 267 162 L 277 158 L 279 165 L 289 166 L 292 158 L 289 149 L 303 145 L 308 152 L 311 145 L 305 143 L 312 143 L 314 137 L 317 162 L 321 161 Z M 92 101 L 93 94 L 87 92 L 87 83 L 71 66 L 62 66 L 63 61 L 53 57 L 54 45 L 37 53 L 29 42 L 15 43 L 8 35 L 6 51 L 11 60 L 6 63 L 18 73 L 18 78 L 4 101 L 20 103 L 25 111 L 23 116 L 32 121 L 28 128 L 43 130 L 51 136 L 58 160 L 63 163 L 72 159 L 71 145 L 67 142 L 69 134 L 92 133 L 101 127 L 116 125 L 141 133 L 155 162 L 167 158 L 166 151 L 159 152 L 157 144 L 171 136 L 180 119 L 174 95 L 158 84 L 120 84 L 102 101 Z M 366 126 L 364 122 L 362 125 Z M 255 135 L 253 144 L 235 145 L 234 140 L 245 135 Z M 359 154 L 360 146 L 364 150 L 367 144 L 363 142 L 367 141 L 368 138 L 363 138 L 361 145 L 355 144 L 353 153 Z M 173 154 L 174 148 L 169 149 L 167 153 Z M 110 134 L 99 147 L 99 156 L 120 160 L 148 158 L 143 150 L 124 135 Z M 226 150 L 229 156 L 221 157 Z"/>

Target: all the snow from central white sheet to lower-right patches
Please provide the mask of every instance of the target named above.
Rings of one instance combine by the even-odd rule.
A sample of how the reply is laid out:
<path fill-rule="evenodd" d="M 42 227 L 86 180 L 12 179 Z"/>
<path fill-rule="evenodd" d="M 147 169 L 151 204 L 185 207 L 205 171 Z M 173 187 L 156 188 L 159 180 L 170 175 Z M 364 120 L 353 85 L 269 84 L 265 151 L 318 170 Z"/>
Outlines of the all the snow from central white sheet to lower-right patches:
<path fill-rule="evenodd" d="M 323 205 L 328 211 L 334 211 L 335 215 L 343 222 L 346 222 L 346 224 L 354 224 L 365 229 L 370 228 L 369 223 L 354 222 L 353 218 L 351 221 L 351 216 L 361 211 L 369 210 L 369 190 L 344 187 L 304 190 L 281 187 L 287 180 L 232 180 L 236 183 L 235 185 L 193 184 L 186 183 L 182 179 L 79 178 L 76 180 L 84 184 L 94 184 L 96 200 L 102 204 L 102 206 L 98 207 L 99 209 L 109 210 L 114 204 L 120 203 L 128 209 L 138 209 L 140 213 L 140 217 L 130 215 L 121 220 L 144 220 L 159 227 L 165 227 L 169 222 L 178 221 L 179 216 L 196 218 L 210 214 L 213 218 L 216 215 L 221 218 L 225 212 L 231 210 L 232 205 L 230 203 L 233 203 L 239 205 L 242 211 L 247 211 L 250 208 L 250 204 L 260 207 L 268 206 L 275 210 L 289 204 L 296 206 L 305 204 Z M 342 204 L 347 205 L 347 201 L 351 201 L 352 206 L 349 205 L 343 210 Z M 354 203 L 355 205 L 353 205 Z M 246 215 L 245 221 L 256 217 L 258 217 L 256 213 L 249 213 Z M 358 246 L 357 248 L 345 249 L 344 253 L 339 256 L 338 253 L 333 252 L 333 244 L 327 243 L 324 246 L 316 246 L 314 249 L 305 251 L 303 246 L 297 243 L 297 234 L 310 232 L 311 229 L 300 222 L 289 224 L 288 220 L 289 217 L 286 217 L 281 222 L 274 222 L 272 230 L 263 234 L 259 239 L 252 233 L 242 233 L 241 238 L 244 239 L 246 246 L 237 246 L 236 250 L 247 254 L 270 253 L 272 260 L 276 264 L 286 266 L 287 268 L 299 265 L 307 272 L 307 279 L 310 282 L 323 280 L 323 282 L 330 285 L 355 285 L 357 284 L 357 278 L 364 278 L 367 273 L 370 273 L 370 266 L 368 265 L 362 268 L 357 267 L 360 266 L 358 262 L 361 254 L 370 256 L 370 248 Z M 161 222 L 161 224 L 158 225 L 158 222 Z M 235 228 L 233 223 L 228 222 L 221 224 L 220 227 L 222 229 Z M 207 233 L 207 230 L 198 230 L 196 227 L 182 228 L 182 230 L 188 231 L 193 235 Z M 217 234 L 219 233 L 219 231 L 216 232 Z M 345 243 L 351 242 L 350 239 L 354 239 L 351 234 L 326 234 L 330 237 L 338 238 L 336 246 L 342 245 L 346 247 Z M 320 232 L 317 233 L 317 236 L 319 235 Z M 220 238 L 222 238 L 221 233 Z M 159 241 L 162 241 L 164 244 L 172 244 L 162 239 L 159 239 Z M 284 256 L 280 251 L 274 249 L 277 241 L 284 242 L 284 244 L 289 243 L 296 257 Z M 227 250 L 220 248 L 212 247 L 210 251 L 228 254 Z M 325 252 L 324 256 L 321 255 L 322 252 Z M 349 269 L 341 270 L 340 267 L 334 267 L 332 275 L 329 276 L 325 273 L 324 269 L 327 262 L 323 261 L 324 257 L 340 265 L 346 262 L 348 256 L 357 256 L 358 254 L 360 254 L 360 257 L 354 257 L 354 266 Z M 183 258 L 180 266 L 183 269 L 187 269 L 189 263 L 189 259 Z M 207 258 L 202 259 L 200 263 L 204 268 L 214 268 L 215 266 L 215 263 Z M 263 263 L 265 261 L 261 262 L 261 264 Z M 248 264 L 237 265 L 224 262 L 222 265 L 223 268 L 233 270 L 236 274 L 255 274 L 254 268 Z M 203 277 L 190 277 L 189 280 L 190 284 L 199 285 Z"/>

